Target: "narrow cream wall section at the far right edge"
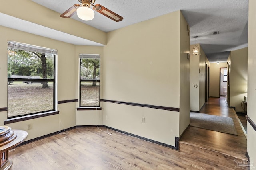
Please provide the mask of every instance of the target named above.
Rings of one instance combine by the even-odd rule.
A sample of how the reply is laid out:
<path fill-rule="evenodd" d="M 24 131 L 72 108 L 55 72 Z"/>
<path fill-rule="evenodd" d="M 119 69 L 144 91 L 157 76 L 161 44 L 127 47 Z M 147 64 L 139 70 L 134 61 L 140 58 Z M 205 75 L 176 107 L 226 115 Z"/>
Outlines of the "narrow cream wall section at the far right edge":
<path fill-rule="evenodd" d="M 249 23 L 248 23 L 248 106 L 247 115 L 256 124 L 256 57 L 255 57 L 255 39 L 256 39 L 256 1 L 249 0 Z M 250 162 L 256 166 L 256 131 L 247 123 L 247 152 L 250 156 Z"/>

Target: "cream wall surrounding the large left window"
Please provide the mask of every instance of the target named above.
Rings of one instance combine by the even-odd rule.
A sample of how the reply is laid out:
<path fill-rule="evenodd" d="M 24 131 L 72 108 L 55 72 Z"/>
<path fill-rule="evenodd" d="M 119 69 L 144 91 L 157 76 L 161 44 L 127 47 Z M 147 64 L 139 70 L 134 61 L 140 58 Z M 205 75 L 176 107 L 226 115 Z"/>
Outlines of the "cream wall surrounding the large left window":
<path fill-rule="evenodd" d="M 0 108 L 7 107 L 7 41 L 17 41 L 41 47 L 48 47 L 58 50 L 58 101 L 75 99 L 75 45 L 55 41 L 45 37 L 24 33 L 14 29 L 9 29 L 0 26 Z M 76 125 L 75 117 L 76 103 L 58 104 L 60 114 L 47 117 L 20 121 L 18 123 L 10 123 L 12 129 L 26 130 L 27 124 L 32 124 L 32 129 L 28 130 L 28 138 L 33 139 L 42 135 L 47 135 L 66 129 Z M 1 112 L 0 123 L 4 125 L 4 120 L 7 119 L 7 111 Z M 59 122 L 62 122 L 60 125 Z M 60 125 L 60 127 L 59 127 Z"/>

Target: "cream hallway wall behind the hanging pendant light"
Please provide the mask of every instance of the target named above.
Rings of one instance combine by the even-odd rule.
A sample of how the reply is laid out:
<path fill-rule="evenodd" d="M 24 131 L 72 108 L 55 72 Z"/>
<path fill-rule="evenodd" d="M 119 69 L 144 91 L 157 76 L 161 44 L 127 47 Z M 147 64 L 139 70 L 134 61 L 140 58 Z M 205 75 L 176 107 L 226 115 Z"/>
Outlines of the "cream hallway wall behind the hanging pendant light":
<path fill-rule="evenodd" d="M 190 45 L 190 53 L 192 54 L 193 47 L 195 45 Z M 204 50 L 199 44 L 199 54 L 191 56 L 190 59 L 190 110 L 200 111 L 205 103 L 205 64 L 210 66 L 210 62 L 207 59 Z M 200 73 L 199 73 L 200 69 Z M 198 85 L 194 88 L 194 84 Z"/>

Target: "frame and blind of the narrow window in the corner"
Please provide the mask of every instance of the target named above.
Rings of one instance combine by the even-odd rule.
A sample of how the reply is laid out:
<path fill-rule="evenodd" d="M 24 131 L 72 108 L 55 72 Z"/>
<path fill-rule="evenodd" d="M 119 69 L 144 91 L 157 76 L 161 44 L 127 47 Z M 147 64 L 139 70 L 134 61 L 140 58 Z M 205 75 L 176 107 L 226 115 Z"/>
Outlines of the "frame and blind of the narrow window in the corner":
<path fill-rule="evenodd" d="M 99 79 L 81 79 L 81 61 L 82 59 L 99 59 L 99 54 L 79 54 L 79 108 L 78 110 L 91 110 L 93 108 L 100 109 L 100 78 Z M 100 64 L 99 64 L 99 72 L 100 72 Z M 100 74 L 100 73 L 99 73 Z M 81 106 L 81 82 L 99 82 L 99 96 L 98 96 L 98 105 L 94 106 Z M 88 109 L 86 109 L 88 108 Z"/>

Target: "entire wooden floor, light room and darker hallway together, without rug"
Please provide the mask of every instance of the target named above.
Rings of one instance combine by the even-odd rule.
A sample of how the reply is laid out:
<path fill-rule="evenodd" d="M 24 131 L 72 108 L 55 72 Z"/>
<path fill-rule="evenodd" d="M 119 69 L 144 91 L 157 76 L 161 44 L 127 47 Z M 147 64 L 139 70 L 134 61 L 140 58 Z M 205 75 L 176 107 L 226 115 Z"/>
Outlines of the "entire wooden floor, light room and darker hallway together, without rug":
<path fill-rule="evenodd" d="M 202 111 L 234 116 L 228 107 L 215 104 L 217 101 L 210 99 Z M 180 152 L 112 130 L 108 135 L 100 130 L 106 131 L 104 127 L 76 128 L 68 131 L 68 139 L 58 134 L 10 150 L 9 158 L 14 162 L 11 170 L 240 169 L 235 167 L 234 157 L 231 165 L 226 165 L 218 155 L 223 152 L 224 159 L 230 155 L 245 158 L 246 139 L 235 124 L 238 136 L 190 127 L 180 139 Z M 201 153 L 204 147 L 210 150 Z M 207 155 L 210 151 L 214 152 L 211 157 Z M 214 161 L 215 157 L 220 160 Z"/>

